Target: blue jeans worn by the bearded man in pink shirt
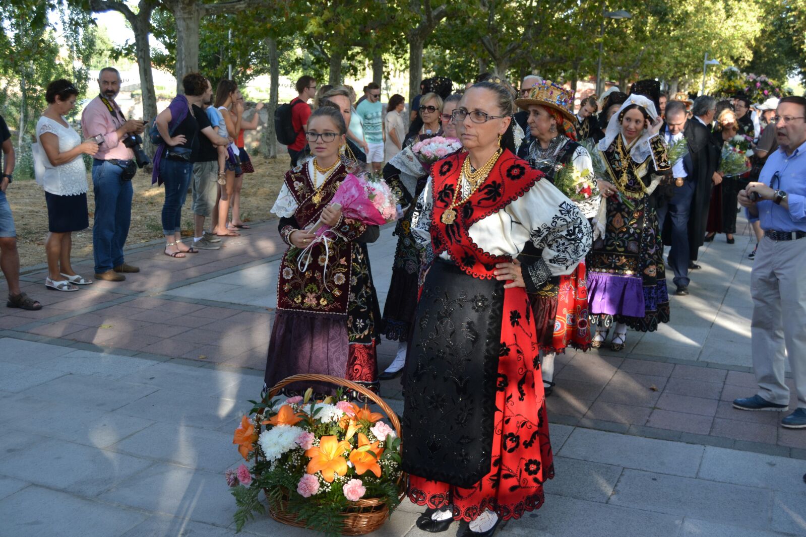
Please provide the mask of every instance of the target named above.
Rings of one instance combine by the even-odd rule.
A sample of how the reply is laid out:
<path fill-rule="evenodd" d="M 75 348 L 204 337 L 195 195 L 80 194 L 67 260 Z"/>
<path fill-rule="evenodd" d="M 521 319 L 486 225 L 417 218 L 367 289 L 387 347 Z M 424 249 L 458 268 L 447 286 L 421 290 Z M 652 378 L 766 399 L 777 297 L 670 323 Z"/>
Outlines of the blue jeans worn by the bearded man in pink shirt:
<path fill-rule="evenodd" d="M 123 265 L 123 245 L 131 224 L 131 181 L 120 179 L 123 168 L 106 160 L 93 160 L 93 256 L 95 273 Z"/>

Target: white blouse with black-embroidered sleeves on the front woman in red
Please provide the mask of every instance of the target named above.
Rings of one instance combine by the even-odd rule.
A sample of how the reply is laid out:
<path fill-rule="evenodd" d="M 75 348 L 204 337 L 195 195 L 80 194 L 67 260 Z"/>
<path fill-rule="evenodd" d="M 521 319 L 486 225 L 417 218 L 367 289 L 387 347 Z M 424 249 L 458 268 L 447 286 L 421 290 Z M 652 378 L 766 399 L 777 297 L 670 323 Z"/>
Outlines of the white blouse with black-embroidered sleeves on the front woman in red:
<path fill-rule="evenodd" d="M 412 233 L 417 242 L 430 250 L 431 213 L 434 206 L 434 180 L 428 178 L 412 217 Z M 463 179 L 462 196 L 471 191 Z M 542 258 L 552 276 L 571 274 L 591 248 L 588 221 L 573 201 L 548 180 L 540 180 L 526 193 L 497 213 L 482 218 L 468 229 L 473 242 L 492 255 L 521 253 L 526 242 L 542 248 Z M 439 257 L 450 259 L 447 252 Z"/>

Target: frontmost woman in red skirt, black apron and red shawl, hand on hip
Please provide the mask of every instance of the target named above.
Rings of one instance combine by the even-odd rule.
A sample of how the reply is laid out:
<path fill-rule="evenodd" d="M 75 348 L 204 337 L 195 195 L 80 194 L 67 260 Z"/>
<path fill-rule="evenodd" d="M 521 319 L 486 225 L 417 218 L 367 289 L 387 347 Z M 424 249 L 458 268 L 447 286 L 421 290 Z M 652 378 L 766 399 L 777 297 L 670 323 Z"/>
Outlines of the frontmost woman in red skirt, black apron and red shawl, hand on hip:
<path fill-rule="evenodd" d="M 417 525 L 492 535 L 554 475 L 527 291 L 570 274 L 591 242 L 576 205 L 513 155 L 512 94 L 481 82 L 453 112 L 466 153 L 434 163 L 413 233 L 432 259 L 406 357 L 403 468 Z M 517 262 L 527 243 L 542 248 Z"/>

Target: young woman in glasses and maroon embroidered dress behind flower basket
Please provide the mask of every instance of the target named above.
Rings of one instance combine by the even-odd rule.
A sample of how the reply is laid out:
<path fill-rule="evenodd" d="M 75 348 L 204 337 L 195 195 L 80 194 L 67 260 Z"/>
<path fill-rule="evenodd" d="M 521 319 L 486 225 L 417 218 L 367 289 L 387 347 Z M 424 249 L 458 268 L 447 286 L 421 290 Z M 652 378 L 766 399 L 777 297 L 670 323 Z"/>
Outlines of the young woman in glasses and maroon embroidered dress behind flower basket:
<path fill-rule="evenodd" d="M 308 119 L 313 157 L 285 174 L 272 213 L 289 245 L 280 262 L 277 308 L 268 344 L 266 386 L 293 374 L 329 374 L 378 389 L 376 307 L 366 247 L 377 226 L 344 218 L 330 205 L 351 164 L 339 157 L 347 126 L 339 109 Z M 326 243 L 307 231 L 330 225 Z M 291 387 L 290 392 L 299 386 Z M 320 386 L 317 386 L 319 389 Z M 322 386 L 324 390 L 325 387 Z"/>

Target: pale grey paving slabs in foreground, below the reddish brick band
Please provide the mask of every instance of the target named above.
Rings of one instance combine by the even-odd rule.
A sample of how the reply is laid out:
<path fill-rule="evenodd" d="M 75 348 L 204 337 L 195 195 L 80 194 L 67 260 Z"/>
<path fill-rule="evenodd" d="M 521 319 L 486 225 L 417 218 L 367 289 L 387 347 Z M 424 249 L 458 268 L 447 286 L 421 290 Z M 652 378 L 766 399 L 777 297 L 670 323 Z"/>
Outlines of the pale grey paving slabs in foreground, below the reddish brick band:
<path fill-rule="evenodd" d="M 0 535 L 234 535 L 223 472 L 260 372 L 0 339 Z M 557 477 L 500 535 L 806 535 L 804 461 L 551 426 Z M 427 535 L 405 501 L 374 535 Z M 312 531 L 258 516 L 243 535 Z M 454 535 L 449 532 L 447 535 Z"/>

